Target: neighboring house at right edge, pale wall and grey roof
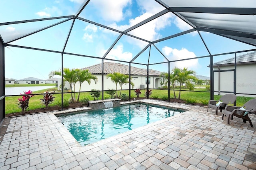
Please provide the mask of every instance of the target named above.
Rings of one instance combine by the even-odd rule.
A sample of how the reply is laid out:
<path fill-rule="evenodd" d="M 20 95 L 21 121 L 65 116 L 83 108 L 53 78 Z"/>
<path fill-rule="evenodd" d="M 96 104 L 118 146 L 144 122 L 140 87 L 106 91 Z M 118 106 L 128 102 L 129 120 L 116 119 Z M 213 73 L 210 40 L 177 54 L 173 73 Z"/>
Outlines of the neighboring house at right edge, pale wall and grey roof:
<path fill-rule="evenodd" d="M 234 69 L 235 58 L 213 63 L 213 70 Z M 208 66 L 209 67 L 209 66 Z M 234 72 L 214 72 L 214 91 L 234 91 Z M 237 96 L 256 97 L 256 51 L 236 57 L 236 93 Z M 225 93 L 214 93 L 223 95 Z"/>

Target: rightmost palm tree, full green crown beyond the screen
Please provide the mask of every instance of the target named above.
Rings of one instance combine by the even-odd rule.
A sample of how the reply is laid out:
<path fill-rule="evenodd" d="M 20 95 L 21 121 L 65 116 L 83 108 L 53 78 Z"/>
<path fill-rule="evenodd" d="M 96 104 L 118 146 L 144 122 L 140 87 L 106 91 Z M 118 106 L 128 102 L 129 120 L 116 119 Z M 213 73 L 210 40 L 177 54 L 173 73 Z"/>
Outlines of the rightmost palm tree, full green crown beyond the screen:
<path fill-rule="evenodd" d="M 185 84 L 189 88 L 189 90 L 193 90 L 194 87 L 190 81 L 197 80 L 197 78 L 195 77 L 196 72 L 194 70 L 188 70 L 188 68 L 185 68 L 185 67 L 183 69 L 178 68 L 176 69 L 176 71 L 177 71 L 177 76 L 175 79 L 180 83 L 180 92 L 181 92 L 182 84 Z M 178 99 L 180 99 L 180 92 L 179 92 Z"/>

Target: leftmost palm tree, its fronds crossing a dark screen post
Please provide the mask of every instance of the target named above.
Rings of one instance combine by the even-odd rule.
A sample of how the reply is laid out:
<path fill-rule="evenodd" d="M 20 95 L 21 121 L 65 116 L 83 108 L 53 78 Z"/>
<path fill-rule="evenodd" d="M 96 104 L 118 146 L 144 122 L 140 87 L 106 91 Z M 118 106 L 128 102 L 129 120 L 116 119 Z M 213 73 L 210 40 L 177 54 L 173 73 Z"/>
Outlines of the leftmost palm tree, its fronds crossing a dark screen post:
<path fill-rule="evenodd" d="M 73 84 L 76 81 L 76 72 L 78 72 L 79 69 L 69 69 L 69 68 L 63 68 L 63 86 L 65 85 L 65 82 L 67 81 L 70 85 L 70 90 L 72 90 Z M 53 76 L 58 75 L 58 76 L 62 76 L 62 71 L 60 70 L 55 70 L 55 71 L 51 71 L 49 73 L 49 78 L 52 78 Z M 75 90 L 75 89 L 74 89 Z M 73 98 L 73 94 L 71 93 L 71 100 L 72 103 L 74 103 L 74 98 Z"/>

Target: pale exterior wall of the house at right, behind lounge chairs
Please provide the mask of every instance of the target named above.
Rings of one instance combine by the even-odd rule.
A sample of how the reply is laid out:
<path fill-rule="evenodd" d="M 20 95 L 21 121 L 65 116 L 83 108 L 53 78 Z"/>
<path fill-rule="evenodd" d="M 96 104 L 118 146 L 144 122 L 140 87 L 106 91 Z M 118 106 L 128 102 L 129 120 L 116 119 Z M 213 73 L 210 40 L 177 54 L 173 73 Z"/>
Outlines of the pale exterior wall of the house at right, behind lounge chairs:
<path fill-rule="evenodd" d="M 234 66 L 220 66 L 220 70 L 234 69 Z M 214 70 L 218 70 L 214 67 Z M 256 64 L 244 64 L 236 66 L 236 93 L 256 94 Z M 214 73 L 214 90 L 218 91 L 220 83 L 220 91 L 234 91 L 234 72 L 220 72 L 220 82 L 218 81 L 218 72 Z M 218 95 L 218 92 L 214 93 Z M 225 93 L 220 93 L 224 95 Z M 256 95 L 237 96 L 256 97 Z"/>

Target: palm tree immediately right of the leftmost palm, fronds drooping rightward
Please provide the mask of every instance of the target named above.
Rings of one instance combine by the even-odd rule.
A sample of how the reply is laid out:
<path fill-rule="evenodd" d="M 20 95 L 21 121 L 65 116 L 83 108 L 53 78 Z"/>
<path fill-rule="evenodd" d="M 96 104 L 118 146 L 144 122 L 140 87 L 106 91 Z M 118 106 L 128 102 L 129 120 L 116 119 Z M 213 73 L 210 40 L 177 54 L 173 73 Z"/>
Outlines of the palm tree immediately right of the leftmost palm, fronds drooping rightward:
<path fill-rule="evenodd" d="M 88 82 L 88 84 L 91 84 L 91 80 L 94 80 L 95 84 L 97 84 L 98 82 L 98 78 L 95 75 L 92 75 L 89 70 L 79 70 L 79 72 L 77 72 L 77 80 L 79 82 L 79 93 L 78 93 L 78 97 L 76 100 L 76 103 L 79 102 L 79 97 L 80 97 L 80 91 L 81 91 L 81 86 L 83 82 Z"/>

